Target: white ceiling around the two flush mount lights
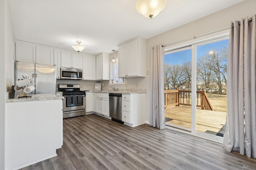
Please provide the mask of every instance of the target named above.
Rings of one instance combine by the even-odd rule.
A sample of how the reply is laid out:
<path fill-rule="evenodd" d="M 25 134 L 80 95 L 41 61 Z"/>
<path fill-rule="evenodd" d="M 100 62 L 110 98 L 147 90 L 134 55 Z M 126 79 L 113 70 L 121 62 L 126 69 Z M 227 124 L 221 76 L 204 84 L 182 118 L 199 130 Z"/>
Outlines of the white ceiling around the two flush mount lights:
<path fill-rule="evenodd" d="M 82 52 L 112 53 L 136 36 L 148 39 L 244 0 L 167 0 L 155 18 L 138 14 L 137 0 L 10 0 L 15 39 Z"/>

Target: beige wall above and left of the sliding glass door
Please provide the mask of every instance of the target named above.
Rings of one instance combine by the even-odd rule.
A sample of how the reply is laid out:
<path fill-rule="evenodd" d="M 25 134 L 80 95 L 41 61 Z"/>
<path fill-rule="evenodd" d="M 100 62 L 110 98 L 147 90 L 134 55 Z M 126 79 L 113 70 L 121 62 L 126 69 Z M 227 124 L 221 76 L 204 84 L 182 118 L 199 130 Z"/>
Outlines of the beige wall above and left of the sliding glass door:
<path fill-rule="evenodd" d="M 150 70 L 150 48 L 158 44 L 170 44 L 185 39 L 193 38 L 196 35 L 201 35 L 204 33 L 209 33 L 218 29 L 222 29 L 230 25 L 231 21 L 240 20 L 240 18 L 249 18 L 256 14 L 256 1 L 255 0 L 246 0 L 230 8 L 226 8 L 222 11 L 216 12 L 199 20 L 193 21 L 186 25 L 182 25 L 170 31 L 166 31 L 160 35 L 147 39 L 146 41 L 146 56 L 147 56 L 147 70 Z M 180 18 L 182 20 L 182 18 Z M 134 82 L 136 83 L 136 82 Z M 146 121 L 149 121 L 149 111 L 151 109 L 150 104 L 150 77 L 147 76 L 140 81 L 140 87 L 145 86 L 147 91 L 147 118 Z"/>

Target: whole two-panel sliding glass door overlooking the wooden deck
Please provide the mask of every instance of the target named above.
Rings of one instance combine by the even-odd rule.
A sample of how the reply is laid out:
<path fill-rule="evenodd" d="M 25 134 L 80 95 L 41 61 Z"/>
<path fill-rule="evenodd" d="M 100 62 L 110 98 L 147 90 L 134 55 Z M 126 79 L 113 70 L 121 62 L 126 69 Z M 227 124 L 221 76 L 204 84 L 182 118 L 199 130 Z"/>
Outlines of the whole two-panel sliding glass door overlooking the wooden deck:
<path fill-rule="evenodd" d="M 206 138 L 223 137 L 228 37 L 165 53 L 166 125 Z"/>

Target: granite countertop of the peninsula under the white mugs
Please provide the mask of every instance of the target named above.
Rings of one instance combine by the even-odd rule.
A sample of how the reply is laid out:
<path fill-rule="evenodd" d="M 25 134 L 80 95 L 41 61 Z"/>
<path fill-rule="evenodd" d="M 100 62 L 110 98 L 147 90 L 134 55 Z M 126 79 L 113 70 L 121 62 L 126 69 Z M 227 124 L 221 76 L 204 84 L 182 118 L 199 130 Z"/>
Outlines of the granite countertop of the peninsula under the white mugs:
<path fill-rule="evenodd" d="M 14 98 L 6 100 L 6 103 L 10 102 L 26 102 L 26 101 L 38 101 L 38 100 L 56 100 L 63 99 L 63 96 L 58 96 L 54 94 L 31 94 L 28 96 L 32 96 L 31 98 Z"/>

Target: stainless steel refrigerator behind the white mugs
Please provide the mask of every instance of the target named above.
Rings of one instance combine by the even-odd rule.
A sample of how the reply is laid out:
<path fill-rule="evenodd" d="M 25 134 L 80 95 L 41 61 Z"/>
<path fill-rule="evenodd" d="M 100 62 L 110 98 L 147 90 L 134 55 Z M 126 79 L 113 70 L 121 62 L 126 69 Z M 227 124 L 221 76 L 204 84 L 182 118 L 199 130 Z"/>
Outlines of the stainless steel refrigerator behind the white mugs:
<path fill-rule="evenodd" d="M 15 62 L 15 84 L 22 77 L 34 80 L 35 90 L 32 94 L 55 94 L 56 66 Z"/>

